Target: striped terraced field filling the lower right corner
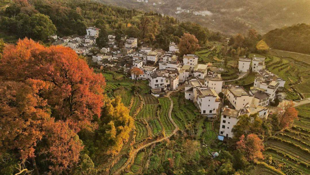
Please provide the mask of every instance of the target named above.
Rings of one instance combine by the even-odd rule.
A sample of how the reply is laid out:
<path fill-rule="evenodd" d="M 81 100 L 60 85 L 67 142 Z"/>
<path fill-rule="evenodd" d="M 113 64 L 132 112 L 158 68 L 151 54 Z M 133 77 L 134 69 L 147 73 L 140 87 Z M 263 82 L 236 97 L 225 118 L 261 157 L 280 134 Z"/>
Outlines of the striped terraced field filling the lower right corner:
<path fill-rule="evenodd" d="M 310 174 L 310 104 L 296 108 L 298 119 L 293 127 L 268 140 L 264 154 L 271 155 L 275 165 L 288 175 Z"/>

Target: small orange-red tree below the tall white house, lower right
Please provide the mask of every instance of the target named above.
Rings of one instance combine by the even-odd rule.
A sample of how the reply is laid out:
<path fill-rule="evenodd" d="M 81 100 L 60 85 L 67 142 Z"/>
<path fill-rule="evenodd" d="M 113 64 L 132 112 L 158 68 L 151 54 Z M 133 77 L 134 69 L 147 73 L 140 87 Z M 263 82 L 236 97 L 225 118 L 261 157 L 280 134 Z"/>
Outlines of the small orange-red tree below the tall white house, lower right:
<path fill-rule="evenodd" d="M 263 141 L 256 134 L 242 135 L 237 142 L 237 149 L 243 151 L 248 160 L 264 159 Z"/>

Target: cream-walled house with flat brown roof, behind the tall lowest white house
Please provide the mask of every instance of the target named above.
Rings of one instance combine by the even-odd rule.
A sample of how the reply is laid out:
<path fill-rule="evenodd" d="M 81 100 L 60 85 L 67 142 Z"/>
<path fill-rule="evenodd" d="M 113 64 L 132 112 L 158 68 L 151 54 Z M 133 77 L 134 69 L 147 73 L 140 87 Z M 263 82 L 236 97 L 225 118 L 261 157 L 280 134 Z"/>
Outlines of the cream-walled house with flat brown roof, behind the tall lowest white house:
<path fill-rule="evenodd" d="M 228 88 L 227 99 L 232 106 L 239 110 L 246 104 L 251 104 L 253 96 L 249 94 L 242 86 L 231 86 Z"/>

